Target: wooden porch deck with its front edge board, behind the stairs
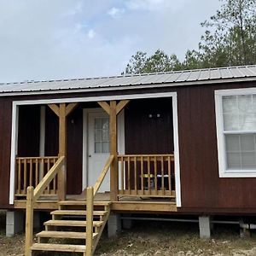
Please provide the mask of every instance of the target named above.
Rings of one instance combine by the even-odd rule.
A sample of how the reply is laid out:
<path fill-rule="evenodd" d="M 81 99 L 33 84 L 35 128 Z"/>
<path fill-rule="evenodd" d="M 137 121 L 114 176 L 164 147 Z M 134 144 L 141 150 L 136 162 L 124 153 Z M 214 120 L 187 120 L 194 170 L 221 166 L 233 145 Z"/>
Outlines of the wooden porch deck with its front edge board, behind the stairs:
<path fill-rule="evenodd" d="M 67 201 L 84 201 L 84 194 L 67 195 Z M 110 201 L 110 193 L 97 193 L 95 201 Z M 84 201 L 84 205 L 85 205 Z M 113 212 L 177 212 L 174 199 L 156 198 L 156 197 L 135 197 L 123 196 L 119 201 L 113 201 L 110 204 Z M 26 200 L 15 200 L 15 209 L 26 209 Z M 42 196 L 34 204 L 37 210 L 55 210 L 58 209 L 57 196 Z"/>

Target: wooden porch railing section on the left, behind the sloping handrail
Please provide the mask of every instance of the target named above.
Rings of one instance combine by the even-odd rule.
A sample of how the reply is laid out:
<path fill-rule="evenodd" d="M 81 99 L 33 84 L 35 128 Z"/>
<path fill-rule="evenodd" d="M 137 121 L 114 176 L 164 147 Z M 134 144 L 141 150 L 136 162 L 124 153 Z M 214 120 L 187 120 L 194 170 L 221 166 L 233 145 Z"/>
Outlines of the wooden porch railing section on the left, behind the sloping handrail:
<path fill-rule="evenodd" d="M 26 196 L 28 186 L 37 187 L 42 178 L 49 172 L 57 156 L 17 157 L 16 158 L 16 188 L 15 196 Z M 57 194 L 57 177 L 44 190 L 44 195 Z"/>

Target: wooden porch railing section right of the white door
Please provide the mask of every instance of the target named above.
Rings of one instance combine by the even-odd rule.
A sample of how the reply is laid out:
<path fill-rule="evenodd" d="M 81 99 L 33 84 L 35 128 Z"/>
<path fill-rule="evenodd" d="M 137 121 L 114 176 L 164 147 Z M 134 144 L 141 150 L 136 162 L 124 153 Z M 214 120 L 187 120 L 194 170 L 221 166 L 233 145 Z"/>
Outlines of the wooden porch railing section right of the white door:
<path fill-rule="evenodd" d="M 119 197 L 175 197 L 173 154 L 118 155 Z"/>

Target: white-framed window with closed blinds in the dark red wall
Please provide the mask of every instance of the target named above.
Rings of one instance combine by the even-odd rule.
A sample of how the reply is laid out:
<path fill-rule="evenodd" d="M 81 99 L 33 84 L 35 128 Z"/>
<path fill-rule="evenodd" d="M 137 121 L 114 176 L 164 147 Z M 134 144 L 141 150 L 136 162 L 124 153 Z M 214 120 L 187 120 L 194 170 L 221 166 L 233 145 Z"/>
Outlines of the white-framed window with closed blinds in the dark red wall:
<path fill-rule="evenodd" d="M 256 177 L 256 89 L 215 92 L 220 177 Z"/>

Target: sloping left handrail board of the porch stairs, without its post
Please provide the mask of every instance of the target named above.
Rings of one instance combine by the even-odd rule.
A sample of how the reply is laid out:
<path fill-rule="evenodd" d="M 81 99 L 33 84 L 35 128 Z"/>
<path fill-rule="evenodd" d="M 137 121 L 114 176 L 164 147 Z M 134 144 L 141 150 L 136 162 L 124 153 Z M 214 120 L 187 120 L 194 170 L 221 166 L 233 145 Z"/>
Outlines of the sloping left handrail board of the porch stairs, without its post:
<path fill-rule="evenodd" d="M 55 177 L 59 169 L 61 168 L 63 162 L 65 160 L 65 156 L 61 156 L 56 162 L 55 165 L 49 169 L 49 172 L 43 177 L 43 179 L 38 183 L 38 186 L 34 190 L 34 201 L 38 200 L 38 197 L 43 193 L 44 189 L 47 188 L 49 183 Z"/>

